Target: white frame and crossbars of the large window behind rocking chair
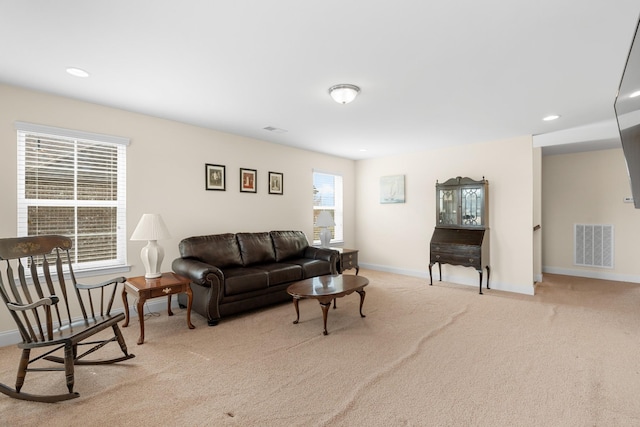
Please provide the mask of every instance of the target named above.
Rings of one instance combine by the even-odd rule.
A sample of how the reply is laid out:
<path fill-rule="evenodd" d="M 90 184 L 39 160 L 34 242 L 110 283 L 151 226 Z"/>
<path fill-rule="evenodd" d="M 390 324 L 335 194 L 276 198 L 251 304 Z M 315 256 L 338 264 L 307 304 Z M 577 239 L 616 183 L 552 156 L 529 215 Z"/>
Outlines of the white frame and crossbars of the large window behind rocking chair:
<path fill-rule="evenodd" d="M 29 207 L 73 207 L 76 215 L 74 216 L 74 233 L 68 235 L 73 240 L 73 251 L 75 256 L 78 255 L 79 238 L 82 234 L 78 233 L 78 215 L 77 209 L 83 207 L 115 207 L 116 208 L 116 245 L 115 258 L 109 260 L 76 262 L 73 259 L 74 272 L 79 276 L 96 274 L 109 274 L 113 272 L 129 271 L 127 265 L 127 237 L 126 237 L 126 148 L 130 144 L 129 138 L 105 135 L 92 132 L 84 132 L 72 129 L 57 128 L 52 126 L 38 125 L 26 122 L 15 122 L 17 137 L 17 166 L 18 166 L 18 185 L 17 185 L 17 235 L 24 237 L 28 235 L 28 210 Z M 40 136 L 42 138 L 56 138 L 67 140 L 73 144 L 72 151 L 76 154 L 74 159 L 74 172 L 77 172 L 77 149 L 78 143 L 91 143 L 116 148 L 116 179 L 117 179 L 117 196 L 115 200 L 83 200 L 78 197 L 77 192 L 77 174 L 74 174 L 73 181 L 76 191 L 71 199 L 27 199 L 26 198 L 26 149 L 28 136 Z"/>

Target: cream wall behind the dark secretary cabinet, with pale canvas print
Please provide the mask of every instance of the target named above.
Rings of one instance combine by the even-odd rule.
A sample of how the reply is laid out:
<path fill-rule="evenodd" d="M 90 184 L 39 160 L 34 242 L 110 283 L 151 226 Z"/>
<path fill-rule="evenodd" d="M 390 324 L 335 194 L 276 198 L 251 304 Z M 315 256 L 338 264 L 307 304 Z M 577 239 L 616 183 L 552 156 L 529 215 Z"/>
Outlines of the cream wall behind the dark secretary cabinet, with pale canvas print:
<path fill-rule="evenodd" d="M 358 161 L 356 242 L 361 264 L 428 278 L 436 180 L 485 177 L 491 286 L 533 294 L 533 168 L 531 137 Z M 405 175 L 406 203 L 379 203 L 380 177 L 387 175 Z M 471 268 L 444 265 L 442 273 L 445 281 L 478 283 L 478 273 Z"/>

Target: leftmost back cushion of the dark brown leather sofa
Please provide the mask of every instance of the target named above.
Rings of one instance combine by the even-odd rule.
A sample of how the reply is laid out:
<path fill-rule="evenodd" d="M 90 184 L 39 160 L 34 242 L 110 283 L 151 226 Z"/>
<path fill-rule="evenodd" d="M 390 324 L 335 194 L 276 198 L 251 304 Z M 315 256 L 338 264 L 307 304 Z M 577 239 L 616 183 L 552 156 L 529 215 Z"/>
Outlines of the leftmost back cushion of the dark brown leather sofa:
<path fill-rule="evenodd" d="M 219 268 L 242 266 L 240 248 L 233 233 L 188 237 L 178 248 L 183 258 L 196 258 Z"/>

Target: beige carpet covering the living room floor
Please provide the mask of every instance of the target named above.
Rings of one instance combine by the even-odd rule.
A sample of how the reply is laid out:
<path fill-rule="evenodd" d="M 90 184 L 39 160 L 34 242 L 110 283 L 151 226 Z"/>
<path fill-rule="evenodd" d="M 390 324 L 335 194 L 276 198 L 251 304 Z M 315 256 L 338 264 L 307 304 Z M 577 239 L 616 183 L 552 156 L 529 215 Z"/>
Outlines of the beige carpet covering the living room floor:
<path fill-rule="evenodd" d="M 316 301 L 293 325 L 284 304 L 208 327 L 184 310 L 123 329 L 136 358 L 78 367 L 80 398 L 0 395 L 3 425 L 640 425 L 640 286 L 545 275 L 536 296 L 362 270 L 322 335 Z M 14 382 L 16 347 L 0 349 Z M 31 380 L 31 381 L 30 381 Z M 24 391 L 64 392 L 33 373 Z"/>

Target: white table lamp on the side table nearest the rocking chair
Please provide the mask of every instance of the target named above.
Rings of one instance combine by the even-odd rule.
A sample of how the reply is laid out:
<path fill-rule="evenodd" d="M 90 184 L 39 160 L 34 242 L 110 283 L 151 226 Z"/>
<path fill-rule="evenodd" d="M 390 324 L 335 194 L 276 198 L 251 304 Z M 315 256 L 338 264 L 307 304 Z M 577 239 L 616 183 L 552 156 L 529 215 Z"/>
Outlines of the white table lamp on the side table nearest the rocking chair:
<path fill-rule="evenodd" d="M 164 258 L 164 249 L 158 245 L 157 241 L 168 239 L 171 235 L 167 226 L 164 225 L 162 217 L 159 214 L 144 214 L 140 218 L 140 222 L 133 230 L 131 240 L 147 240 L 147 246 L 140 251 L 140 258 L 146 271 L 144 277 L 147 279 L 155 279 L 162 276 L 160 266 Z"/>

